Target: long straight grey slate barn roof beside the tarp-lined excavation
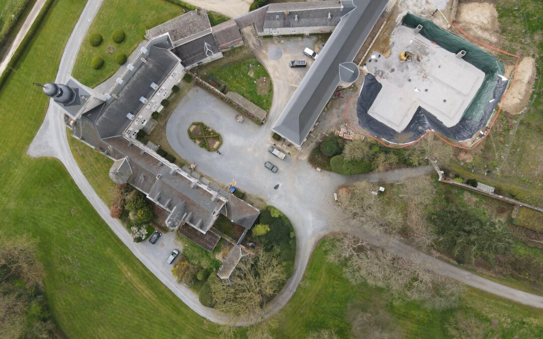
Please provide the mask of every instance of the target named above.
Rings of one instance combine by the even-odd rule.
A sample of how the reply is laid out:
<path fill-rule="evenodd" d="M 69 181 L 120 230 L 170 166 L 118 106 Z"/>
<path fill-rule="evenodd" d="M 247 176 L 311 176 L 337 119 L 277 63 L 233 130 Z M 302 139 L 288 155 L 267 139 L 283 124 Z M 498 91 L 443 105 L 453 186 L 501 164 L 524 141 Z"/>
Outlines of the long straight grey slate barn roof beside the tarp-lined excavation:
<path fill-rule="evenodd" d="M 273 130 L 301 146 L 339 84 L 339 64 L 351 62 L 370 34 L 388 0 L 353 0 L 319 57 L 288 101 Z"/>

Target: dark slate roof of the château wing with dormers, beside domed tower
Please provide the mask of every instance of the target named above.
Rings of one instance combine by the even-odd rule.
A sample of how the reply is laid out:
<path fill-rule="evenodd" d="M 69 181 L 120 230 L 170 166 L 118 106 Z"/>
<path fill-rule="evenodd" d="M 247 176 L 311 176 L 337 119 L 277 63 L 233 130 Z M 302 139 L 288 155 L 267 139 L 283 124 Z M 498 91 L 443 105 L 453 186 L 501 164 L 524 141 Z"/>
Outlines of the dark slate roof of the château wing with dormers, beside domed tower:
<path fill-rule="evenodd" d="M 135 68 L 127 73 L 127 80 L 114 87 L 112 92 L 117 92 L 117 99 L 111 97 L 104 105 L 83 114 L 96 125 L 100 138 L 121 135 L 131 121 L 127 114 L 136 115 L 144 105 L 140 98 L 149 99 L 155 92 L 150 85 L 153 82 L 162 84 L 179 62 L 168 50 L 154 46 L 149 48 L 144 59 L 147 62 L 142 62 L 141 59 L 133 60 L 131 65 Z"/>

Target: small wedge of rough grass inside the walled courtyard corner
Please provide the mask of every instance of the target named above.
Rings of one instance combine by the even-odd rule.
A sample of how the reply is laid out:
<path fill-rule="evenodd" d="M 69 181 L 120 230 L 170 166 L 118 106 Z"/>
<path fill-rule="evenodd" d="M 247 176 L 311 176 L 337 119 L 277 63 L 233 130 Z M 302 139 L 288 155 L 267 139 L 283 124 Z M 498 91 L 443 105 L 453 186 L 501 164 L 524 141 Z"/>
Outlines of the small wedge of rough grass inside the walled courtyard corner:
<path fill-rule="evenodd" d="M 269 111 L 271 97 L 273 97 L 273 86 L 268 71 L 255 57 L 211 68 L 207 71 L 207 75 L 208 77 L 216 76 L 228 85 L 229 91 L 241 94 L 264 111 Z M 267 94 L 261 95 L 257 94 L 255 81 L 263 77 L 269 82 L 269 89 Z M 207 80 L 205 77 L 204 79 Z"/>

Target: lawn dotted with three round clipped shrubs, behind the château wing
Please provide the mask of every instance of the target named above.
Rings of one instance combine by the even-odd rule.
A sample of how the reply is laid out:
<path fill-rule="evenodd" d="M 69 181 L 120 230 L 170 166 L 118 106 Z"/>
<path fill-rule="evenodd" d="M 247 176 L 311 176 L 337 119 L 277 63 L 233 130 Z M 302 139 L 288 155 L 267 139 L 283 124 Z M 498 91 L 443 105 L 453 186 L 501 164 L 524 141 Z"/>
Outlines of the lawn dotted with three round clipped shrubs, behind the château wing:
<path fill-rule="evenodd" d="M 90 87 L 99 85 L 119 68 L 115 62 L 116 53 L 129 56 L 138 43 L 144 40 L 146 29 L 181 15 L 182 10 L 180 6 L 164 0 L 104 0 L 81 44 L 73 77 Z M 111 33 L 116 29 L 122 29 L 126 34 L 125 40 L 119 44 L 111 40 Z M 92 47 L 89 43 L 89 35 L 93 33 L 100 33 L 104 38 L 98 47 Z M 115 48 L 115 53 L 106 52 L 109 46 Z M 101 56 L 105 61 L 104 66 L 98 70 L 91 67 L 94 56 Z"/>

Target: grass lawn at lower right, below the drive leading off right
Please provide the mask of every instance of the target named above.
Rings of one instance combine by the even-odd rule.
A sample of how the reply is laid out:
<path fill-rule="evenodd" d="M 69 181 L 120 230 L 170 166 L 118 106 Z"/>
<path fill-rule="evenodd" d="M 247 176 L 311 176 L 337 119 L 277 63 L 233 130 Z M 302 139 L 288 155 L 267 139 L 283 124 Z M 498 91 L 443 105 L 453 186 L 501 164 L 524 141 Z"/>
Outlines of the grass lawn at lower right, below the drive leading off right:
<path fill-rule="evenodd" d="M 275 337 L 304 338 L 312 331 L 333 330 L 338 337 L 350 337 L 348 319 L 356 309 L 384 308 L 409 338 L 450 337 L 446 324 L 457 311 L 474 312 L 485 323 L 498 321 L 490 337 L 541 337 L 543 311 L 509 302 L 478 290 L 468 289 L 455 309 L 428 311 L 418 303 L 386 303 L 383 290 L 366 284 L 353 286 L 343 278 L 342 267 L 326 261 L 322 241 L 311 257 L 302 283 L 279 317 Z"/>

